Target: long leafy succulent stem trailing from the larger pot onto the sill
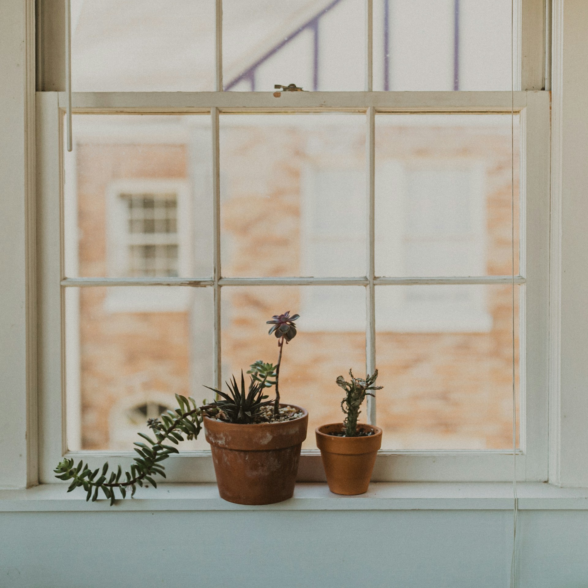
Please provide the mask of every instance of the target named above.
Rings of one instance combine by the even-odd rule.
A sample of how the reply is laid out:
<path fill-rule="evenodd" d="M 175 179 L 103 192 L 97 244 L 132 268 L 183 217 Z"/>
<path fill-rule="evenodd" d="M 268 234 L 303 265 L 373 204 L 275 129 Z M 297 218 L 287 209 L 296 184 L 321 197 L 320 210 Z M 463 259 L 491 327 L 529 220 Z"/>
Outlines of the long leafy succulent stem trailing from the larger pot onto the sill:
<path fill-rule="evenodd" d="M 136 442 L 133 447 L 139 454 L 135 457 L 135 463 L 131 465 L 130 472 L 122 472 L 121 466 L 118 466 L 116 472 L 111 472 L 108 476 L 108 462 L 92 472 L 87 463 L 83 460 L 74 467 L 73 459 L 64 459 L 54 470 L 57 478 L 60 480 L 73 480 L 69 486 L 68 492 L 81 486 L 88 493 L 86 501 L 92 498 L 92 502 L 98 498 L 98 493 L 102 490 L 104 496 L 111 501 L 115 501 L 115 489 L 118 489 L 122 498 L 126 497 L 126 490 L 132 489 L 131 496 L 135 494 L 137 485 L 146 486 L 151 484 L 157 487 L 153 476 L 160 475 L 165 477 L 164 467 L 161 462 L 179 451 L 171 446 L 165 445 L 165 442 L 171 441 L 174 445 L 186 439 L 195 439 L 202 429 L 202 410 L 196 406 L 196 401 L 190 397 L 179 396 L 176 394 L 179 408 L 175 411 L 168 410 L 160 419 L 149 419 L 147 425 L 155 435 L 155 441 L 148 435 L 138 433 L 149 445 L 142 442 Z M 100 472 L 100 475 L 98 475 Z M 108 476 L 108 477 L 107 477 Z"/>

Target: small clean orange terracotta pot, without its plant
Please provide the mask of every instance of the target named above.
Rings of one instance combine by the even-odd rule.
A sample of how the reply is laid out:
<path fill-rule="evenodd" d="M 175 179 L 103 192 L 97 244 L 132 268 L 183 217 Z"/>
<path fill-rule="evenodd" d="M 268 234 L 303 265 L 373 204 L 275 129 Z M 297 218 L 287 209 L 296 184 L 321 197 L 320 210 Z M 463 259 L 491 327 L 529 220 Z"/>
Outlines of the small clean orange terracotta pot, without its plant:
<path fill-rule="evenodd" d="M 368 491 L 377 450 L 382 445 L 382 429 L 358 425 L 373 430 L 368 437 L 337 437 L 330 432 L 343 430 L 343 423 L 332 423 L 315 429 L 316 446 L 320 449 L 329 490 L 335 494 L 363 494 Z"/>

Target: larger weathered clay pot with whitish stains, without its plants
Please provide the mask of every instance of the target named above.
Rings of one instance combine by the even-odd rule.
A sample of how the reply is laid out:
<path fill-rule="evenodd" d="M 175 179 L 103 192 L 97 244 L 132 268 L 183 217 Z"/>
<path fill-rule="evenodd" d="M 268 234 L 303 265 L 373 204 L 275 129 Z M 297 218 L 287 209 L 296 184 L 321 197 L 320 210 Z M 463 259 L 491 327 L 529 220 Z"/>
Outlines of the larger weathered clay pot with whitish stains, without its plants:
<path fill-rule="evenodd" d="M 221 498 L 239 505 L 292 498 L 308 427 L 308 412 L 295 408 L 304 415 L 283 423 L 234 425 L 204 417 Z"/>

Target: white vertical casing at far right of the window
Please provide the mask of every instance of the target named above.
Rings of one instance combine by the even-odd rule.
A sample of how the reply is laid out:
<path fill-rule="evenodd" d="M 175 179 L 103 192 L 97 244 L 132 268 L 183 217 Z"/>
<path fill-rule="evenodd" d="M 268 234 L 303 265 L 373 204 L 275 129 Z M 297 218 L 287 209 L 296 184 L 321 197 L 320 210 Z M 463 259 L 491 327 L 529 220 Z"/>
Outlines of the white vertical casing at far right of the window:
<path fill-rule="evenodd" d="M 556 26 L 561 15 L 563 55 L 557 52 L 553 62 L 554 116 L 562 105 L 553 126 L 561 165 L 561 183 L 553 193 L 560 198 L 562 223 L 559 467 L 562 485 L 588 486 L 588 2 L 557 1 Z"/>

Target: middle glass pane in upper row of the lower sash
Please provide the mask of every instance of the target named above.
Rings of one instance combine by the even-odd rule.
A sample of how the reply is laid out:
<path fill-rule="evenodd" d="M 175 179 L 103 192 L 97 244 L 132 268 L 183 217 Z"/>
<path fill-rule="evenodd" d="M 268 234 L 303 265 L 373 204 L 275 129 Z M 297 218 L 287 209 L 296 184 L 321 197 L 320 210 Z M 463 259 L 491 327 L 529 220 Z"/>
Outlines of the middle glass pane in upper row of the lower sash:
<path fill-rule="evenodd" d="M 366 272 L 365 116 L 221 115 L 224 276 Z"/>

